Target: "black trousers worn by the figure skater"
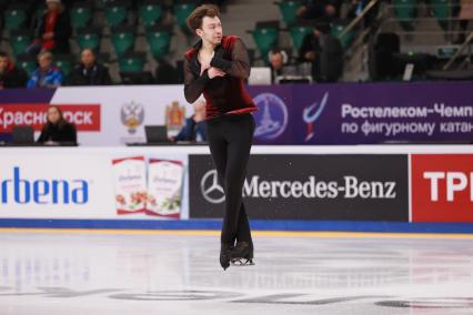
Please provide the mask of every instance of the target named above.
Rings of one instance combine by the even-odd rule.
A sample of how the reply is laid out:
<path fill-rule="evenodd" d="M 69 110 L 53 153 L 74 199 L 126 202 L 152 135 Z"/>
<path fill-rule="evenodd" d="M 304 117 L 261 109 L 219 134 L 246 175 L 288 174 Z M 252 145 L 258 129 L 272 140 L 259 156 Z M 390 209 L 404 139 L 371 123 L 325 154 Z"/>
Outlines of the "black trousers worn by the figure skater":
<path fill-rule="evenodd" d="M 242 189 L 253 132 L 252 114 L 227 114 L 208 121 L 210 152 L 225 192 L 222 243 L 252 241 Z"/>

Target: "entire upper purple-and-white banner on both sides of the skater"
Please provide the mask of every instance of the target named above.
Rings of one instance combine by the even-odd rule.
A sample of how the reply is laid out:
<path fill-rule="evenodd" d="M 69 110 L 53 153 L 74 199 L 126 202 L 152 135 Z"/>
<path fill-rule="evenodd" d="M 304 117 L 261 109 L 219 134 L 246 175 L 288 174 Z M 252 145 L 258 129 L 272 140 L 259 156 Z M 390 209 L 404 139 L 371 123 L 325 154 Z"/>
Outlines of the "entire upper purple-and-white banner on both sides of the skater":
<path fill-rule="evenodd" d="M 256 144 L 473 141 L 471 83 L 282 84 L 248 91 L 259 108 Z M 40 106 L 30 114 L 24 106 L 33 104 Z M 0 91 L 0 141 L 13 124 L 38 129 L 46 104 L 91 106 L 90 115 L 70 116 L 79 124 L 81 145 L 144 142 L 147 124 L 165 124 L 172 136 L 193 113 L 182 85 Z"/>

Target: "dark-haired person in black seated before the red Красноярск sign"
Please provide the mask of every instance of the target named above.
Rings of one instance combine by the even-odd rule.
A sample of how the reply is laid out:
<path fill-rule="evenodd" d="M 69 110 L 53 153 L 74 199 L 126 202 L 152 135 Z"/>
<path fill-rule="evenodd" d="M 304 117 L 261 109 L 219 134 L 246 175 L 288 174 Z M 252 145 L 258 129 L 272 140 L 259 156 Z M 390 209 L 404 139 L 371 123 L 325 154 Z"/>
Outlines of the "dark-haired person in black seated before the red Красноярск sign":
<path fill-rule="evenodd" d="M 73 123 L 68 122 L 58 106 L 48 108 L 48 121 L 41 130 L 39 143 L 77 143 L 77 130 Z"/>

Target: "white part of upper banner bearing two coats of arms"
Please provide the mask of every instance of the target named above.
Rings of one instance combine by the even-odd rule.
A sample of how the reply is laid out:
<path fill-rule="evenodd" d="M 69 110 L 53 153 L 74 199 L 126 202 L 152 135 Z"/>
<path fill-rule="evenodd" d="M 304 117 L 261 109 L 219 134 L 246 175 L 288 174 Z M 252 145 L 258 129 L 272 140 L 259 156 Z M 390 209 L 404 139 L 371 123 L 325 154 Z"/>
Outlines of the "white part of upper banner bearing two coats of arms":
<path fill-rule="evenodd" d="M 124 145 L 145 142 L 144 125 L 167 125 L 168 135 L 175 135 L 191 105 L 182 85 L 60 88 L 51 103 L 100 103 L 102 132 L 82 133 L 83 145 Z"/>

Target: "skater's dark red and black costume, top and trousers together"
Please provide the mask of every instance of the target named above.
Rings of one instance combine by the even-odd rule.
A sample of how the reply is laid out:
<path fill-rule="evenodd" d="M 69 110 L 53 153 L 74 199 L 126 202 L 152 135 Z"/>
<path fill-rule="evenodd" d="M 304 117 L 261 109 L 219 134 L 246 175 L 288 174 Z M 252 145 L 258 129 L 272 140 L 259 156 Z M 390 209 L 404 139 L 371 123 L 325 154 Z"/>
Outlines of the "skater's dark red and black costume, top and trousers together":
<path fill-rule="evenodd" d="M 210 152 L 225 192 L 222 244 L 249 242 L 252 245 L 250 225 L 242 202 L 242 187 L 246 175 L 254 132 L 251 112 L 258 108 L 244 89 L 250 75 L 248 50 L 240 38 L 223 37 L 215 48 L 211 67 L 227 75 L 209 78 L 201 73 L 198 59 L 202 41 L 185 53 L 184 94 L 193 103 L 202 93 L 207 100 L 207 123 Z"/>

